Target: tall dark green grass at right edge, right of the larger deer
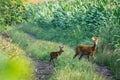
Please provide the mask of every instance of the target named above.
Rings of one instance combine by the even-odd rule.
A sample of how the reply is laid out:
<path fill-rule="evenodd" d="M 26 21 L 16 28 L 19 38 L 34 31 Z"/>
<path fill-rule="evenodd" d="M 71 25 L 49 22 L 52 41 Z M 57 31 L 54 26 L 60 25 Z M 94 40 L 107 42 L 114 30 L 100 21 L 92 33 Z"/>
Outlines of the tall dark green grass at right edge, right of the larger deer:
<path fill-rule="evenodd" d="M 119 80 L 120 77 L 120 50 L 116 49 L 115 51 L 110 49 L 104 49 L 103 52 L 99 51 L 97 54 L 97 64 L 102 66 L 107 66 L 111 70 L 116 80 Z M 101 59 L 102 58 L 102 59 Z"/>

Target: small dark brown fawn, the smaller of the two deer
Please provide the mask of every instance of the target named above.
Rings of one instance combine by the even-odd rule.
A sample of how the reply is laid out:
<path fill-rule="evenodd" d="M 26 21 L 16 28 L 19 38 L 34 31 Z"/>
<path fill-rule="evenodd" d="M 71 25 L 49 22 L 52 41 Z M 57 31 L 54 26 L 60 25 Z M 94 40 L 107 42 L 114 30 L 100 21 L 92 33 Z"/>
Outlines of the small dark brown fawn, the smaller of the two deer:
<path fill-rule="evenodd" d="M 59 46 L 60 50 L 56 51 L 56 52 L 51 52 L 50 53 L 50 61 L 53 61 L 53 59 L 57 59 L 58 56 L 60 56 L 62 54 L 62 52 L 64 52 L 64 47 L 63 46 Z"/>

